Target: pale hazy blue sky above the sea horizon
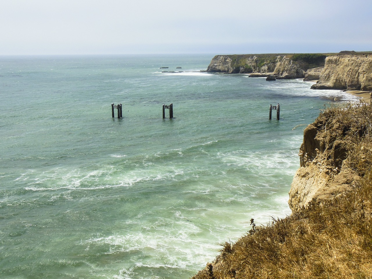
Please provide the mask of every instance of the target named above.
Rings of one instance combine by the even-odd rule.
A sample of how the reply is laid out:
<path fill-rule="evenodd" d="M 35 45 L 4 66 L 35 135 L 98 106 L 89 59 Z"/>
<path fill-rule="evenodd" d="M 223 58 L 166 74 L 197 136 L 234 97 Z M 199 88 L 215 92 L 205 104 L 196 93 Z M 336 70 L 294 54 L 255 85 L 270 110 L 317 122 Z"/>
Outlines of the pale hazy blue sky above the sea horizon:
<path fill-rule="evenodd" d="M 372 51 L 371 0 L 0 1 L 0 55 Z"/>

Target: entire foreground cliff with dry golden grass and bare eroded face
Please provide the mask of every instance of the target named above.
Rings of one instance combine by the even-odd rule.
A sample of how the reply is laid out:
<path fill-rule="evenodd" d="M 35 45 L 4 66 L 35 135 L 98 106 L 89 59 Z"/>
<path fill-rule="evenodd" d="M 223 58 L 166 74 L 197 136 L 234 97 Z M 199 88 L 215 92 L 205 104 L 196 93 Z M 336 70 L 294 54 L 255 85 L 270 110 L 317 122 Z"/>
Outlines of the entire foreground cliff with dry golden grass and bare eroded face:
<path fill-rule="evenodd" d="M 193 279 L 371 278 L 372 106 L 325 109 L 304 130 L 292 214 L 252 229 Z"/>

